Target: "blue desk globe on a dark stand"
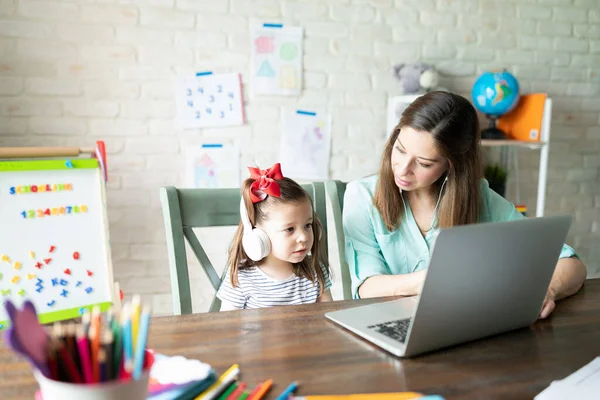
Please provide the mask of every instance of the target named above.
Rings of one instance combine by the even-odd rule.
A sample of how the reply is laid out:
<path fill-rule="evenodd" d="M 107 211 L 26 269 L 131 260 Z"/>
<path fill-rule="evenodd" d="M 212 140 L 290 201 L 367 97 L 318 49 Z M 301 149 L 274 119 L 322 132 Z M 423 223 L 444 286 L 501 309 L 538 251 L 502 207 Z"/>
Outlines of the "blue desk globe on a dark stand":
<path fill-rule="evenodd" d="M 471 97 L 475 107 L 488 116 L 490 126 L 481 132 L 484 139 L 504 139 L 496 128 L 496 118 L 511 111 L 519 102 L 519 82 L 506 70 L 484 72 L 473 84 Z"/>

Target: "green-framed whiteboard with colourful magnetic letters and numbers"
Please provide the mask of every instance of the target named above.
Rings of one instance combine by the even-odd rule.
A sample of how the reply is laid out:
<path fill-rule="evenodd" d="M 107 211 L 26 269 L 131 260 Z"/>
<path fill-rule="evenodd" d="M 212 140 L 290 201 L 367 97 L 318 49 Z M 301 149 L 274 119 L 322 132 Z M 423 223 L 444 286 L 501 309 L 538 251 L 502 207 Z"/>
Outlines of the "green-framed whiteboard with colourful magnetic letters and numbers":
<path fill-rule="evenodd" d="M 0 161 L 0 296 L 41 322 L 112 301 L 104 181 L 96 159 Z M 7 326 L 4 307 L 0 324 Z"/>

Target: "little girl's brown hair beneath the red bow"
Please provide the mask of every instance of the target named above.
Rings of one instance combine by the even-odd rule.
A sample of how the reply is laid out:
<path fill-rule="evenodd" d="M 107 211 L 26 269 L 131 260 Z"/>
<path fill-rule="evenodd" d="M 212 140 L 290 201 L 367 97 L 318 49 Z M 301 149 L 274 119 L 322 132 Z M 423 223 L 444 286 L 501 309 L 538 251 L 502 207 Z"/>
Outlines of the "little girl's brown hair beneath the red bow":
<path fill-rule="evenodd" d="M 254 179 L 246 179 L 242 185 L 242 198 L 244 199 L 244 205 L 248 213 L 248 219 L 253 227 L 256 227 L 258 221 L 265 220 L 268 218 L 269 207 L 273 204 L 301 204 L 302 202 L 308 201 L 312 204 L 310 195 L 296 183 L 294 180 L 289 178 L 283 178 L 276 180 L 281 189 L 281 197 L 268 196 L 261 202 L 252 203 L 250 200 L 250 185 L 254 182 Z M 329 271 L 328 262 L 325 257 L 325 238 L 323 237 L 323 226 L 319 217 L 314 211 L 313 207 L 313 245 L 310 249 L 309 255 L 304 257 L 304 260 L 294 264 L 294 274 L 299 277 L 303 277 L 312 282 L 318 282 L 320 287 L 320 293 L 323 294 L 325 288 L 325 274 L 321 265 Z M 261 261 L 252 261 L 242 246 L 242 236 L 244 235 L 244 225 L 240 221 L 233 242 L 229 248 L 229 257 L 227 263 L 230 268 L 231 285 L 236 287 L 239 285 L 238 271 L 242 269 L 251 268 L 260 265 Z"/>

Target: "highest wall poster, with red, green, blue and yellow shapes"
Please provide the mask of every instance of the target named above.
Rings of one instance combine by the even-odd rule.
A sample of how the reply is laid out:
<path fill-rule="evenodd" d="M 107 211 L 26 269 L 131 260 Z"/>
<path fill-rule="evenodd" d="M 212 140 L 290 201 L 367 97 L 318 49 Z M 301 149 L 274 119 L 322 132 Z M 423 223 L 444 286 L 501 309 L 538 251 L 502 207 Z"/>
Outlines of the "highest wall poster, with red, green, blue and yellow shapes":
<path fill-rule="evenodd" d="M 301 27 L 262 24 L 252 33 L 255 94 L 299 95 L 302 90 Z"/>

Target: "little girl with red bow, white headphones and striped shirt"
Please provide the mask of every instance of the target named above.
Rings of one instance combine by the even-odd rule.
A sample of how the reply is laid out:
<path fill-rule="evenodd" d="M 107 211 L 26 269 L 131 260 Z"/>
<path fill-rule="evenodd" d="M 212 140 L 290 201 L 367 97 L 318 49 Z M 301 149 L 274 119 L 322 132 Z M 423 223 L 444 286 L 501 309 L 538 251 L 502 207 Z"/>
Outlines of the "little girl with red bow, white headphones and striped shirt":
<path fill-rule="evenodd" d="M 217 292 L 221 311 L 331 301 L 322 227 L 310 196 L 283 177 L 279 163 L 248 169 L 229 271 Z"/>

